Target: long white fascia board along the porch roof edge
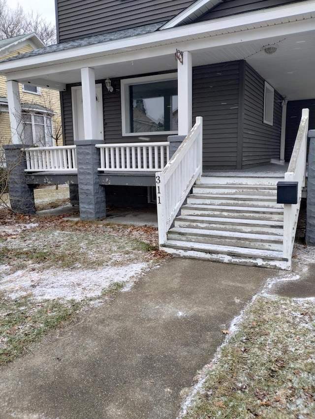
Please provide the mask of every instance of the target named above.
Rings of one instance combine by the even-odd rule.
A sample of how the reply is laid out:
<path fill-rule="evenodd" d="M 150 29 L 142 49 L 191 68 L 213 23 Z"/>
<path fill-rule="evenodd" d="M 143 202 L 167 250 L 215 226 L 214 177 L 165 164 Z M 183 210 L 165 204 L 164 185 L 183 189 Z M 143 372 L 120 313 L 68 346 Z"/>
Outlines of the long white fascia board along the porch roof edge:
<path fill-rule="evenodd" d="M 63 50 L 58 52 L 52 52 L 34 57 L 20 58 L 18 60 L 8 61 L 0 63 L 0 73 L 6 74 L 8 72 L 19 70 L 21 67 L 27 66 L 47 66 L 54 64 L 62 64 L 63 62 L 70 61 L 82 61 L 86 56 L 95 54 L 110 55 L 115 53 L 132 52 L 137 48 L 145 49 L 154 46 L 161 46 L 161 44 L 173 44 L 174 42 L 183 42 L 188 36 L 210 36 L 216 32 L 241 32 L 240 27 L 246 27 L 246 25 L 253 25 L 263 23 L 266 21 L 274 21 L 275 19 L 288 18 L 290 16 L 296 16 L 300 14 L 315 12 L 315 0 L 308 0 L 293 5 L 279 6 L 272 9 L 259 10 L 258 12 L 251 12 L 242 15 L 231 16 L 229 18 L 220 18 L 216 21 L 202 22 L 197 24 L 191 24 L 184 27 L 176 27 L 166 29 L 164 31 L 157 31 L 146 35 L 137 35 L 130 38 L 124 38 L 114 40 L 110 42 L 102 42 L 95 45 L 87 45 L 83 47 L 73 48 L 70 50 Z M 285 24 L 283 24 L 285 25 Z M 273 26 L 267 26 L 265 29 L 266 33 L 270 31 Z M 313 24 L 314 26 L 314 24 Z M 106 54 L 105 54 L 106 53 Z"/>

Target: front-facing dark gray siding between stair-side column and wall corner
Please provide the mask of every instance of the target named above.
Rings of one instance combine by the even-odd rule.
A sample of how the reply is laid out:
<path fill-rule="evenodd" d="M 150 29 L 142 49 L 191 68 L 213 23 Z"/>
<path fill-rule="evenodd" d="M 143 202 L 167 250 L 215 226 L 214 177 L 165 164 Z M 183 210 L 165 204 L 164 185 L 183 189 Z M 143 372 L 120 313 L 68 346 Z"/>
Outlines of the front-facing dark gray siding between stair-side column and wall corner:
<path fill-rule="evenodd" d="M 203 117 L 203 170 L 236 169 L 240 62 L 193 68 L 192 115 Z"/>

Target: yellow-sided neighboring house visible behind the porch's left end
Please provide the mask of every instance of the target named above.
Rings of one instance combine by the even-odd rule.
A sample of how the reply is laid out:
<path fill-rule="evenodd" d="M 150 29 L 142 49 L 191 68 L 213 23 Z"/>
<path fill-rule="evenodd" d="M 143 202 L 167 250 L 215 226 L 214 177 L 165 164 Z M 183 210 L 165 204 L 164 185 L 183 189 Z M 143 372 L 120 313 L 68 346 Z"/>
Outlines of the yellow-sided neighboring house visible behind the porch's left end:
<path fill-rule="evenodd" d="M 35 34 L 0 40 L 0 61 L 45 45 Z M 20 84 L 23 108 L 22 142 L 37 146 L 62 145 L 60 94 L 32 84 Z M 11 142 L 6 77 L 0 75 L 0 145 Z"/>

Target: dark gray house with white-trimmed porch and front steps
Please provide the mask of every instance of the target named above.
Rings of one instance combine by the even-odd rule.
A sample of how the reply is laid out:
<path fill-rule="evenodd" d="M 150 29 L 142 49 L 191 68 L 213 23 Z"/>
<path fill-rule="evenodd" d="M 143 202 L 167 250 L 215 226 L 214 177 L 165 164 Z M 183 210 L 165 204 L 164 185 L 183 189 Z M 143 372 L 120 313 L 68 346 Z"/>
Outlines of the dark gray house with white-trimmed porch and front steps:
<path fill-rule="evenodd" d="M 56 45 L 0 63 L 8 154 L 18 82 L 61 92 L 63 150 L 26 150 L 30 205 L 43 180 L 78 185 L 83 219 L 156 187 L 161 248 L 290 269 L 315 128 L 315 1 L 56 0 L 56 16 Z"/>

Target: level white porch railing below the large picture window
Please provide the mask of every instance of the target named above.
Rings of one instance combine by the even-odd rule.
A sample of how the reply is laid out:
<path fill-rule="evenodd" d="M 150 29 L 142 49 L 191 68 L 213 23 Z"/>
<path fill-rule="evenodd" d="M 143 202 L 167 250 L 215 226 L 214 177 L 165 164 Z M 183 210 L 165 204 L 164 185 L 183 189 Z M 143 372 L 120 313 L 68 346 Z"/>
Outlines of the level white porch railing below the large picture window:
<path fill-rule="evenodd" d="M 99 171 L 157 171 L 169 160 L 169 142 L 96 144 Z"/>

